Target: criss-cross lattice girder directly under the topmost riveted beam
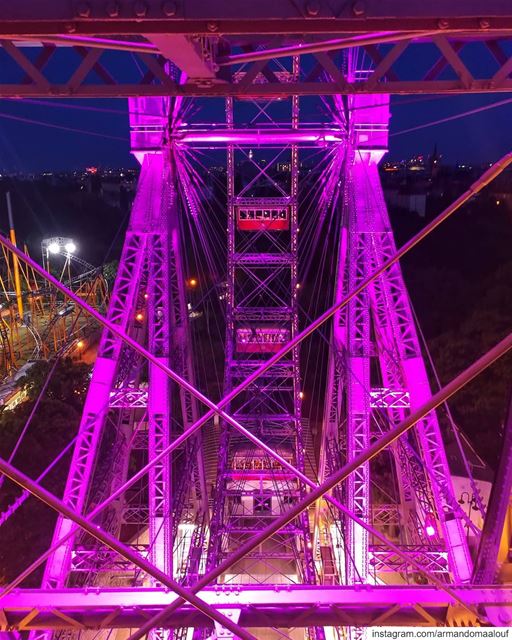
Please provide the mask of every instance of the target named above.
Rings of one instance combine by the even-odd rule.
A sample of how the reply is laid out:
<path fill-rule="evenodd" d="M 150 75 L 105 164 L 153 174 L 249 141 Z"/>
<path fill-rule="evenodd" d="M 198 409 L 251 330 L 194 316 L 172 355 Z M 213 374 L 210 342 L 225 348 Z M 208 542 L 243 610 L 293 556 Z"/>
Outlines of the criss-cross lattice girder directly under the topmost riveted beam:
<path fill-rule="evenodd" d="M 510 20 L 512 22 L 512 17 Z M 120 45 L 109 45 L 108 41 L 104 50 L 98 41 L 87 37 L 77 37 L 65 47 L 45 43 L 34 55 L 34 46 L 37 48 L 39 43 L 32 41 L 27 46 L 27 40 L 11 35 L 0 39 L 0 97 L 239 96 L 271 99 L 357 93 L 509 92 L 512 91 L 511 33 L 512 26 L 500 33 L 486 30 L 459 34 L 438 30 L 426 36 L 407 38 L 399 32 L 374 34 L 373 40 L 379 40 L 379 43 L 372 40 L 372 44 L 354 47 L 374 63 L 371 74 L 356 78 L 348 78 L 338 59 L 333 58 L 342 48 L 340 40 L 319 42 L 318 47 L 325 49 L 322 51 L 297 53 L 299 73 L 293 74 L 286 70 L 276 71 L 270 59 L 279 56 L 288 64 L 291 54 L 287 53 L 290 50 L 287 47 L 258 51 L 260 57 L 268 56 L 269 59 L 238 62 L 236 56 L 222 57 L 217 38 L 210 34 L 210 39 L 202 39 L 201 51 L 205 66 L 213 71 L 201 71 L 198 62 L 194 75 L 183 83 L 174 82 L 165 70 L 168 59 L 186 67 L 177 55 L 173 56 L 172 48 L 163 47 L 161 52 L 153 53 L 151 50 L 132 51 L 133 59 L 127 57 L 126 64 L 121 65 L 118 57 L 107 50 Z M 396 35 L 393 37 L 393 34 Z M 44 40 L 44 36 L 41 39 Z M 163 36 L 162 42 L 165 42 Z M 295 37 L 293 42 L 303 43 L 304 37 Z M 228 48 L 237 46 L 236 42 L 225 44 Z M 253 43 L 250 49 L 256 44 Z M 265 42 L 258 41 L 258 44 Z M 466 45 L 472 46 L 468 55 Z M 58 65 L 62 56 L 65 64 Z M 482 59 L 488 61 L 485 69 L 482 69 Z M 57 66 L 68 71 L 56 74 Z M 200 73 L 205 76 L 198 77 Z"/>

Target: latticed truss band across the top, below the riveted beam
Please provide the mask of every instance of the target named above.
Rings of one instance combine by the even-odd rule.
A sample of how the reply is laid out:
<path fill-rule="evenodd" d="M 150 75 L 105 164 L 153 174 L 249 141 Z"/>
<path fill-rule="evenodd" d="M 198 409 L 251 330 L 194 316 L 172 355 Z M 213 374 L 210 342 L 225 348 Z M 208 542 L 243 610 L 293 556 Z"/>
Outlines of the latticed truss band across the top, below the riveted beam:
<path fill-rule="evenodd" d="M 448 7 L 446 7 L 448 10 Z M 485 3 L 481 4 L 482 15 L 489 11 Z M 247 10 L 244 7 L 243 11 Z M 0 18 L 5 13 L 0 11 Z M 284 22 L 282 29 L 267 36 L 263 35 L 269 25 L 278 29 L 282 21 L 238 21 L 239 28 L 248 33 L 249 43 L 243 53 L 224 55 L 230 47 L 236 49 L 236 37 L 231 42 L 230 24 L 223 24 L 222 37 L 205 30 L 205 25 L 194 31 L 194 37 L 183 35 L 187 21 L 180 19 L 167 23 L 168 31 L 151 34 L 154 25 L 146 23 L 123 25 L 124 34 L 144 33 L 147 42 L 120 42 L 114 39 L 88 37 L 86 35 L 62 34 L 41 36 L 39 31 L 30 35 L 30 26 L 18 38 L 21 22 L 11 23 L 9 34 L 0 40 L 0 51 L 4 56 L 0 72 L 1 97 L 124 97 L 124 96 L 184 96 L 184 97 L 229 97 L 247 96 L 259 98 L 288 97 L 290 95 L 338 95 L 340 93 L 404 94 L 404 93 L 460 93 L 460 92 L 499 92 L 512 88 L 512 60 L 510 58 L 510 27 L 505 27 L 506 18 L 493 23 L 490 19 L 480 18 L 485 26 L 472 24 L 464 33 L 457 30 L 456 18 L 450 22 L 445 14 L 429 25 L 428 29 L 413 30 L 412 18 L 393 18 L 392 31 L 372 30 L 370 21 L 365 20 L 346 24 L 341 31 L 333 30 L 334 21 L 302 20 L 297 31 L 293 21 Z M 509 18 L 510 19 L 510 18 Z M 86 32 L 101 22 L 87 19 L 67 25 L 76 31 L 78 25 Z M 108 33 L 116 21 L 107 21 Z M 144 20 L 140 19 L 143 23 Z M 8 23 L 0 20 L 6 28 Z M 163 23 L 162 23 L 163 24 Z M 209 23 L 213 24 L 213 23 Z M 4 26 L 5 25 L 5 26 Z M 181 34 L 173 34 L 177 28 Z M 400 30 L 396 30 L 401 25 Z M 50 29 L 52 23 L 45 23 Z M 330 26 L 330 31 L 328 27 Z M 259 27 L 259 28 L 258 28 Z M 329 33 L 327 40 L 311 43 L 294 42 L 296 33 L 307 33 L 308 29 L 317 34 Z M 158 29 L 163 27 L 158 27 Z M 234 28 L 234 27 L 233 27 Z M 297 27 L 296 27 L 297 28 Z M 350 31 L 352 28 L 352 31 Z M 349 31 L 346 31 L 349 29 Z M 197 34 L 206 31 L 198 42 Z M 362 31 L 354 36 L 357 31 Z M 241 32 L 237 32 L 241 33 Z M 344 37 L 332 38 L 333 33 Z M 279 35 L 276 35 L 279 34 Z M 287 35 L 293 34 L 289 44 Z M 254 39 L 251 41 L 251 36 Z M 29 47 L 27 48 L 27 43 Z M 467 58 L 463 54 L 465 47 L 471 44 L 481 48 L 480 55 Z M 262 49 L 262 45 L 264 48 Z M 34 46 L 40 46 L 37 56 L 32 56 Z M 373 61 L 375 71 L 371 77 L 349 78 L 333 60 L 340 51 L 347 48 L 359 50 Z M 126 58 L 127 65 L 120 71 L 115 57 L 108 50 L 130 52 L 136 63 Z M 66 64 L 72 67 L 65 78 L 56 77 L 54 63 L 63 50 L 72 52 L 67 56 Z M 427 53 L 425 53 L 425 51 Z M 186 53 L 185 53 L 186 52 Z M 433 53 L 432 53 L 433 52 Z M 301 72 L 295 76 L 288 72 L 276 71 L 271 60 L 298 56 Z M 417 59 L 430 61 L 427 69 L 414 64 Z M 482 72 L 479 60 L 490 61 Z M 175 82 L 165 71 L 167 60 L 175 61 L 187 74 L 184 83 Z M 411 64 L 401 66 L 403 60 Z M 312 61 L 312 64 L 311 64 Z M 126 80 L 126 71 L 132 68 L 131 81 Z M 140 71 L 142 70 L 142 71 Z M 414 73 L 411 79 L 410 72 Z M 482 77 L 484 73 L 484 77 Z"/>

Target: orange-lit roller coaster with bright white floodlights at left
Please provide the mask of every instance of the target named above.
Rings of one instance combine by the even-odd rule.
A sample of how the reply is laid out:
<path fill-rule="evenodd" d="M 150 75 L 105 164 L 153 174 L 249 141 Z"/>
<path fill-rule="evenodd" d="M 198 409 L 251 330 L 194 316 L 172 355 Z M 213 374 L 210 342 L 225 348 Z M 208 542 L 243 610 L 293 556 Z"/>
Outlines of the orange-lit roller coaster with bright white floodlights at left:
<path fill-rule="evenodd" d="M 10 193 L 7 193 L 7 201 L 10 239 L 16 245 Z M 28 255 L 26 245 L 23 250 Z M 48 271 L 57 273 L 59 281 L 66 282 L 72 291 L 95 308 L 106 309 L 108 292 L 102 270 L 75 255 L 76 246 L 70 238 L 46 239 L 42 251 L 43 265 Z M 14 396 L 19 395 L 9 383 L 10 379 L 23 375 L 31 363 L 40 358 L 80 353 L 86 336 L 94 334 L 96 329 L 79 307 L 57 294 L 33 269 L 5 248 L 2 258 L 1 366 L 8 381 L 4 385 L 7 396 L 3 397 L 3 403 L 10 405 L 9 390 L 12 389 Z"/>

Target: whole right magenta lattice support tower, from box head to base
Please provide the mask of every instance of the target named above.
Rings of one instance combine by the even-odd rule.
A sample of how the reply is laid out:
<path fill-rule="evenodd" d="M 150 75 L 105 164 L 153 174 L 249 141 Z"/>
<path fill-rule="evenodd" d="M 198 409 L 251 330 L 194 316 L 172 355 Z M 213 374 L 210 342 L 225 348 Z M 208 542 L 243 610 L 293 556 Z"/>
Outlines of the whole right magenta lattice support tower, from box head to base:
<path fill-rule="evenodd" d="M 337 299 L 355 290 L 396 251 L 377 169 L 387 146 L 387 100 L 349 100 Z M 400 267 L 394 266 L 335 316 L 321 473 L 329 473 L 329 467 L 332 471 L 340 458 L 357 456 L 373 437 L 398 424 L 429 395 L 410 301 Z M 346 429 L 340 431 L 343 423 Z M 423 566 L 469 581 L 464 514 L 453 494 L 435 414 L 413 436 L 400 439 L 390 458 L 381 462 L 392 468 L 397 480 L 396 501 L 377 498 L 379 474 L 370 463 L 352 474 L 340 498 L 363 521 L 388 535 L 392 532 L 403 552 Z M 330 530 L 345 549 L 339 563 L 346 583 L 378 584 L 386 574 L 404 571 L 403 559 L 372 542 L 368 531 L 354 521 L 345 520 L 341 529 L 331 522 Z"/>

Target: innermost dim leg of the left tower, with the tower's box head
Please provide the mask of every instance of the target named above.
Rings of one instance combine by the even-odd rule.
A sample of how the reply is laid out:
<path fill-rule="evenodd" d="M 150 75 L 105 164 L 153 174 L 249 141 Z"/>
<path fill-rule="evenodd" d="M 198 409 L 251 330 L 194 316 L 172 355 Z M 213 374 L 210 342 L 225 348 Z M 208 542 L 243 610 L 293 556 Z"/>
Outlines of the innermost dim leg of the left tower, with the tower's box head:
<path fill-rule="evenodd" d="M 177 69 L 171 63 L 166 65 L 166 73 L 174 80 L 181 81 Z M 168 313 L 165 313 L 165 318 L 163 318 L 163 308 L 162 305 L 159 305 L 156 320 L 165 325 L 168 343 L 166 358 L 172 360 L 173 370 L 192 386 L 196 387 L 181 242 L 180 214 L 183 213 L 186 216 L 188 211 L 184 203 L 178 202 L 179 181 L 184 178 L 188 180 L 188 176 L 183 171 L 180 153 L 174 145 L 174 131 L 181 124 L 182 108 L 182 98 L 131 98 L 130 125 L 132 152 L 136 157 L 140 159 L 145 154 L 153 154 L 155 149 L 161 150 L 160 152 L 163 154 L 162 215 L 165 220 L 155 221 L 152 224 L 152 230 L 162 234 L 161 238 L 153 238 L 152 242 L 155 247 L 155 256 L 158 256 L 159 252 L 164 249 L 166 299 L 169 301 L 169 309 Z M 186 192 L 190 185 L 185 181 L 181 187 Z M 165 248 L 160 247 L 162 243 L 165 243 Z M 149 260 L 152 260 L 151 252 Z M 155 283 L 150 283 L 150 286 L 155 286 Z M 151 298 L 149 302 L 151 305 Z M 155 368 L 153 368 L 152 376 L 155 380 L 159 378 Z M 157 386 L 159 384 L 157 383 Z M 168 393 L 167 389 L 166 393 Z M 178 394 L 182 423 L 180 423 L 179 419 L 173 421 L 176 426 L 176 433 L 180 431 L 181 427 L 188 429 L 190 425 L 197 422 L 200 415 L 197 398 L 194 397 L 189 389 L 179 386 Z M 166 437 L 169 437 L 169 434 Z M 173 488 L 173 522 L 169 531 L 169 533 L 172 532 L 172 536 L 175 539 L 173 555 L 176 555 L 176 566 L 173 567 L 173 574 L 176 578 L 181 579 L 187 570 L 197 574 L 197 567 L 194 569 L 192 567 L 194 562 L 188 562 L 188 555 L 190 558 L 197 558 L 196 551 L 199 548 L 198 545 L 202 546 L 203 538 L 203 534 L 200 535 L 198 532 L 204 532 L 204 527 L 201 524 L 199 526 L 196 525 L 198 522 L 206 522 L 208 518 L 208 492 L 204 473 L 202 435 L 200 433 L 195 434 L 185 444 L 181 460 L 183 458 L 186 459 L 185 466 L 180 467 L 179 470 L 175 469 L 174 474 L 181 474 L 181 471 L 183 471 L 187 479 L 185 481 L 185 475 L 181 474 L 180 480 L 176 483 L 176 487 Z M 178 528 L 181 525 L 186 528 L 188 532 L 186 537 L 188 539 L 191 537 L 191 529 L 194 530 L 192 538 L 194 540 L 197 538 L 197 544 L 194 543 L 195 551 L 190 554 L 180 555 L 180 550 L 183 549 L 183 535 L 178 535 Z"/>

